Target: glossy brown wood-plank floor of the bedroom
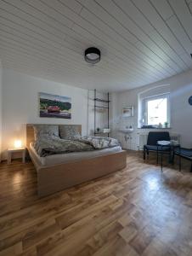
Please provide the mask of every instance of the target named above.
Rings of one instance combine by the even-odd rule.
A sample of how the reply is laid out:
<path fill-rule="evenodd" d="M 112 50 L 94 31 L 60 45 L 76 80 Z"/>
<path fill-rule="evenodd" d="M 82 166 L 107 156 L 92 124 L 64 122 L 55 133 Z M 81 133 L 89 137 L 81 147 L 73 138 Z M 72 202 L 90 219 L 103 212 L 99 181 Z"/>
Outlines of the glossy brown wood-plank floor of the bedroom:
<path fill-rule="evenodd" d="M 1 164 L 0 255 L 191 256 L 192 174 L 175 167 L 128 152 L 125 170 L 38 199 L 31 162 Z"/>

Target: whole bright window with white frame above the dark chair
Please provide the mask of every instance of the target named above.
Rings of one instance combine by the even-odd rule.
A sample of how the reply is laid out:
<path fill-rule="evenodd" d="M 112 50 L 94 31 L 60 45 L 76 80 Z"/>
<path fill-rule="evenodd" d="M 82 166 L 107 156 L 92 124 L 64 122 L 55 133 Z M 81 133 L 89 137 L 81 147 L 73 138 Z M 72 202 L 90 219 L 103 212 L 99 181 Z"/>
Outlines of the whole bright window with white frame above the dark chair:
<path fill-rule="evenodd" d="M 142 105 L 144 125 L 170 125 L 169 94 L 147 97 L 143 100 Z"/>

